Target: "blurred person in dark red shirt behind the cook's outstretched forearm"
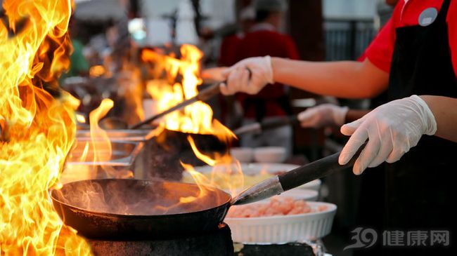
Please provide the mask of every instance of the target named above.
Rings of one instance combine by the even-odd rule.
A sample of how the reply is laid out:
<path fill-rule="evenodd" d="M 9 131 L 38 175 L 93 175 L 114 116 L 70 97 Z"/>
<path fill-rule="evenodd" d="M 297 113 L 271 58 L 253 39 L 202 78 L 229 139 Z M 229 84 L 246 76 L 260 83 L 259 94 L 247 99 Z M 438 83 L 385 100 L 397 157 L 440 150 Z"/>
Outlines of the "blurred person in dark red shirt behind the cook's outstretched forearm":
<path fill-rule="evenodd" d="M 255 25 L 238 43 L 235 60 L 269 55 L 297 60 L 297 48 L 290 36 L 278 32 L 286 10 L 283 0 L 257 0 Z M 271 83 L 257 95 L 241 93 L 236 99 L 244 109 L 243 125 L 274 119 L 292 114 L 288 94 L 283 83 Z M 292 152 L 292 128 L 283 127 L 266 131 L 259 135 L 240 137 L 242 147 L 284 147 L 290 156 Z"/>

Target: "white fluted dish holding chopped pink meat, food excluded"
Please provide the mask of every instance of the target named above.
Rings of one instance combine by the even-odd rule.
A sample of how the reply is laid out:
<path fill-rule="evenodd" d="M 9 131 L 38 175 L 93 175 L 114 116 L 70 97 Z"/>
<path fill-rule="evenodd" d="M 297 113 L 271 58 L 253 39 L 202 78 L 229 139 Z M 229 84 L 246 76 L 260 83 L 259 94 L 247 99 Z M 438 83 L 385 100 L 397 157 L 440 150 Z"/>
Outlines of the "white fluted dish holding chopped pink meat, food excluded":
<path fill-rule="evenodd" d="M 333 203 L 308 202 L 311 208 L 327 206 L 318 213 L 270 217 L 226 218 L 234 242 L 292 243 L 316 240 L 330 234 L 337 206 Z"/>

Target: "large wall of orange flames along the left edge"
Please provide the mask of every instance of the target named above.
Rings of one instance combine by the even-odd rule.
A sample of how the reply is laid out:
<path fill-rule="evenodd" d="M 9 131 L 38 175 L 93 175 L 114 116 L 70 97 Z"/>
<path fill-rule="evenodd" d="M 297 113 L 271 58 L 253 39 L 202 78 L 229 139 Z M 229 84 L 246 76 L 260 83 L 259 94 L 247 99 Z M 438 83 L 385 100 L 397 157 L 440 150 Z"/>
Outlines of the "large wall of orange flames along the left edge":
<path fill-rule="evenodd" d="M 9 27 L 0 22 L 0 255 L 89 255 L 48 194 L 75 140 L 78 101 L 57 83 L 69 65 L 72 3 L 5 0 L 3 7 Z"/>

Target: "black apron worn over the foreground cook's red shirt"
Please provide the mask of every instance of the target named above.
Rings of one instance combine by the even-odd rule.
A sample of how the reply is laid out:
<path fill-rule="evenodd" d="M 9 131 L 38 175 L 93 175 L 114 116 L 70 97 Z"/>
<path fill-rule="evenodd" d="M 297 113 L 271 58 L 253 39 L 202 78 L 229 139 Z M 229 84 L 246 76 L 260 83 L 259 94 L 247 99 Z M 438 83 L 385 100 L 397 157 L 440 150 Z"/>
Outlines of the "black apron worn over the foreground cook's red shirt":
<path fill-rule="evenodd" d="M 444 0 L 427 27 L 397 28 L 389 100 L 414 94 L 457 97 L 446 24 L 450 2 Z M 386 166 L 385 228 L 445 229 L 451 231 L 451 245 L 457 241 L 457 212 L 451 209 L 457 203 L 457 143 L 424 135 L 400 161 Z M 431 250 L 423 248 L 418 254 Z"/>

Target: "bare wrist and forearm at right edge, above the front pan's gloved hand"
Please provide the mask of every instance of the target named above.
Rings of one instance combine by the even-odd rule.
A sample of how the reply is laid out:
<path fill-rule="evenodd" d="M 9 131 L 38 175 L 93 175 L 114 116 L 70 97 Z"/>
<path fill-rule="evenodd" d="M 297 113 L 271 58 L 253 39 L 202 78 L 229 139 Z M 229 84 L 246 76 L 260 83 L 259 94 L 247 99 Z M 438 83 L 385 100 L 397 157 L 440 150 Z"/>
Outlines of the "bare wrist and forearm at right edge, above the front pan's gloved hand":
<path fill-rule="evenodd" d="M 457 142 L 457 99 L 443 96 L 420 96 L 432 110 L 437 121 L 437 135 Z"/>

